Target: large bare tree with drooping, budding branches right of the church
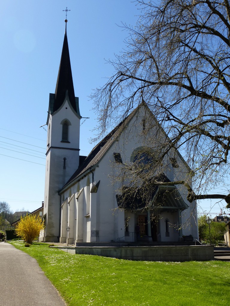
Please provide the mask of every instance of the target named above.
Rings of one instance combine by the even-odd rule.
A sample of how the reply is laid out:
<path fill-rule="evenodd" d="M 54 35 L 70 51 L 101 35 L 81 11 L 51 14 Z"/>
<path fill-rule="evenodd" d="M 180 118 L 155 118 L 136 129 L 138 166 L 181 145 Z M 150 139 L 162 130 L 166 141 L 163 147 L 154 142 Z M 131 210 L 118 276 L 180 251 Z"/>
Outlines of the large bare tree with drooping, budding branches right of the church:
<path fill-rule="evenodd" d="M 145 103 L 168 136 L 157 152 L 155 170 L 169 152 L 179 150 L 193 171 L 194 186 L 192 190 L 186 181 L 163 182 L 160 175 L 154 183 L 182 184 L 190 202 L 224 199 L 230 207 L 228 186 L 226 194 L 209 194 L 229 175 L 229 2 L 137 4 L 142 15 L 136 26 L 123 24 L 128 30 L 126 50 L 110 61 L 115 73 L 92 95 L 99 109 L 98 137 Z"/>

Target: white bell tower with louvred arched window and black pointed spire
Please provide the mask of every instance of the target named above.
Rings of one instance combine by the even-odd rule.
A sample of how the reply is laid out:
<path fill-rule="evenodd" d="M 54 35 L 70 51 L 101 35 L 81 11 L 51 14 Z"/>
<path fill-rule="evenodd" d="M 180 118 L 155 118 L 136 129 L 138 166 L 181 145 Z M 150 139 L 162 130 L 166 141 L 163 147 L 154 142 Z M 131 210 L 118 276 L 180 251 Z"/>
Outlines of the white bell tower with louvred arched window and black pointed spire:
<path fill-rule="evenodd" d="M 44 241 L 59 241 L 59 190 L 79 166 L 80 111 L 67 41 L 67 20 L 54 94 L 49 95 L 44 194 Z"/>

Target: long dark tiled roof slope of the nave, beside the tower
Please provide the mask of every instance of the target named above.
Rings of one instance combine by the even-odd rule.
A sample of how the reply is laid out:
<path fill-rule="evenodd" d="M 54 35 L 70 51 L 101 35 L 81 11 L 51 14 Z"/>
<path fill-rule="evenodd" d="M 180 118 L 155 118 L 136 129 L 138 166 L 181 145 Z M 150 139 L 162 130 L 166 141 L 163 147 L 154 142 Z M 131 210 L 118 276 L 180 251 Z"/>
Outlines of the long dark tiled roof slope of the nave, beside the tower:
<path fill-rule="evenodd" d="M 139 106 L 140 107 L 140 106 Z M 67 183 L 63 186 L 63 189 L 71 182 L 73 182 L 79 175 L 83 174 L 86 170 L 88 170 L 90 167 L 94 166 L 99 160 L 102 158 L 102 156 L 105 154 L 105 152 L 108 150 L 108 148 L 113 144 L 116 137 L 120 135 L 122 130 L 124 129 L 125 125 L 134 117 L 137 110 L 139 109 L 137 107 L 135 110 L 132 111 L 126 117 L 124 120 L 122 120 L 108 135 L 105 136 L 90 152 L 90 154 L 86 157 L 86 159 L 82 162 L 82 164 L 79 164 L 79 168 L 75 171 L 75 173 L 72 175 L 72 177 L 67 181 Z"/>

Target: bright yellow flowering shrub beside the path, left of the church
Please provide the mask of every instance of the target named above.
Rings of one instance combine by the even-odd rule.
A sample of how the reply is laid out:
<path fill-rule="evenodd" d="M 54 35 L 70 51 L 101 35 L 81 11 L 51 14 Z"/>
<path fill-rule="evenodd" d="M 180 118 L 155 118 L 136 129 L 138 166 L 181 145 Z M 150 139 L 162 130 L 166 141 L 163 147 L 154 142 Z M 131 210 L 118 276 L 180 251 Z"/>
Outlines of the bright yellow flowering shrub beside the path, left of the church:
<path fill-rule="evenodd" d="M 40 231 L 44 229 L 44 220 L 35 215 L 26 215 L 21 217 L 16 227 L 17 236 L 21 236 L 26 242 L 32 243 L 36 237 L 39 237 Z"/>

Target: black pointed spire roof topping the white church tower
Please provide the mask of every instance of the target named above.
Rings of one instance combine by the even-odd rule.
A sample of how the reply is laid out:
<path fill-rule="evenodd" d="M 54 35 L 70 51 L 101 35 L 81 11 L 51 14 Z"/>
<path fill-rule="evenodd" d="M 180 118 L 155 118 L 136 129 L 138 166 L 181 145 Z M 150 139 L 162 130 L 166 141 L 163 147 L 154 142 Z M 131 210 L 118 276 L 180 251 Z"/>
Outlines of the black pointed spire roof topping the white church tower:
<path fill-rule="evenodd" d="M 67 25 L 67 19 L 65 20 Z M 61 61 L 58 71 L 57 84 L 55 89 L 55 102 L 53 105 L 53 112 L 59 109 L 63 104 L 66 92 L 68 92 L 68 97 L 74 110 L 77 112 L 75 94 L 74 94 L 74 84 L 72 78 L 71 64 L 70 64 L 70 54 L 67 40 L 67 30 L 65 28 L 65 36 L 62 47 Z"/>

